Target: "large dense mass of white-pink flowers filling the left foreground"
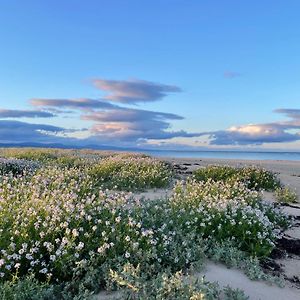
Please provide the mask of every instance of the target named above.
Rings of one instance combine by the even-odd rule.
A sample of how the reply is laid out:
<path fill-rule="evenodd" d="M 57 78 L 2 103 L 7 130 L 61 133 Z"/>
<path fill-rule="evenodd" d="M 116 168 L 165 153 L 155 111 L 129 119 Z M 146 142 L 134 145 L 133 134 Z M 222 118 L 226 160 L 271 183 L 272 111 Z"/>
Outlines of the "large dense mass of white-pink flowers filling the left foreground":
<path fill-rule="evenodd" d="M 125 254 L 133 239 L 125 237 L 143 241 L 141 226 L 128 226 L 128 196 L 92 194 L 91 178 L 77 169 L 48 167 L 0 182 L 1 277 L 68 279 L 95 256 Z"/>

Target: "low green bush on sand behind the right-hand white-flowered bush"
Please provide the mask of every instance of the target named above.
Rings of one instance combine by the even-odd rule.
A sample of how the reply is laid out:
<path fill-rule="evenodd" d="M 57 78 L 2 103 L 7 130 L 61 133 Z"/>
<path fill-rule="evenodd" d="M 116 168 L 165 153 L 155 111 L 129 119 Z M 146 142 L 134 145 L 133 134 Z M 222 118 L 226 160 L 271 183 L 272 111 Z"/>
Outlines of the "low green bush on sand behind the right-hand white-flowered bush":
<path fill-rule="evenodd" d="M 258 167 L 234 168 L 230 166 L 207 166 L 193 172 L 197 181 L 244 182 L 250 189 L 274 190 L 280 186 L 276 175 Z"/>

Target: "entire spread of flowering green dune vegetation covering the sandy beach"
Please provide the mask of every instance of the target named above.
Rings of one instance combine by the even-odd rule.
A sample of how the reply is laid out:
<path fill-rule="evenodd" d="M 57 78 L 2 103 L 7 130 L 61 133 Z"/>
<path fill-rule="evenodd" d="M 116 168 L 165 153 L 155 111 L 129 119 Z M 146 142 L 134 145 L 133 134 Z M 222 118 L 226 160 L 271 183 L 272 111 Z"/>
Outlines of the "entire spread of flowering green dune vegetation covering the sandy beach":
<path fill-rule="evenodd" d="M 200 168 L 150 201 L 134 192 L 168 188 L 176 176 L 145 155 L 1 156 L 0 299 L 89 299 L 104 289 L 120 289 L 121 299 L 247 299 L 195 281 L 207 259 L 279 282 L 260 267 L 290 222 L 262 199 L 261 189 L 281 186 L 272 172 Z"/>

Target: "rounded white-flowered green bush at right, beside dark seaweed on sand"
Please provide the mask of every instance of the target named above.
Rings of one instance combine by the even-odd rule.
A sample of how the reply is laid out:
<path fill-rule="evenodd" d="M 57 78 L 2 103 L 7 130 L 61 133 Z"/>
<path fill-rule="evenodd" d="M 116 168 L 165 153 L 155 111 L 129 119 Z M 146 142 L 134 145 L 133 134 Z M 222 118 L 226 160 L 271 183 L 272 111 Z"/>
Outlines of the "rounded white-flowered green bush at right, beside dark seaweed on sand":
<path fill-rule="evenodd" d="M 239 248 L 254 256 L 267 256 L 287 218 L 266 204 L 243 183 L 190 180 L 180 182 L 172 198 L 178 220 L 196 227 L 204 238 L 239 241 Z M 185 220 L 184 220 L 185 218 Z"/>

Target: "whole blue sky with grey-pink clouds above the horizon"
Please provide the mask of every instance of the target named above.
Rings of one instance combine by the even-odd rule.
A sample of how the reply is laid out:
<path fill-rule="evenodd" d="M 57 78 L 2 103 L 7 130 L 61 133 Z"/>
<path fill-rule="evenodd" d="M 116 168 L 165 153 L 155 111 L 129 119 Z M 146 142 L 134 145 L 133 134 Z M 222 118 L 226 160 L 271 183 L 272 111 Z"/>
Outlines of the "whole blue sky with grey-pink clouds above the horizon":
<path fill-rule="evenodd" d="M 298 0 L 0 0 L 0 144 L 300 150 Z"/>

